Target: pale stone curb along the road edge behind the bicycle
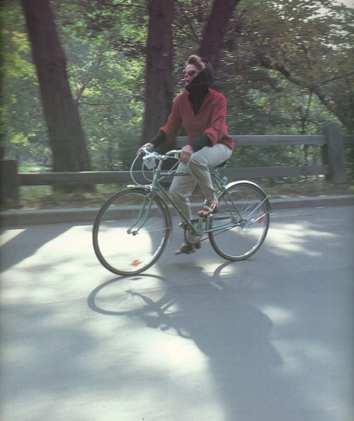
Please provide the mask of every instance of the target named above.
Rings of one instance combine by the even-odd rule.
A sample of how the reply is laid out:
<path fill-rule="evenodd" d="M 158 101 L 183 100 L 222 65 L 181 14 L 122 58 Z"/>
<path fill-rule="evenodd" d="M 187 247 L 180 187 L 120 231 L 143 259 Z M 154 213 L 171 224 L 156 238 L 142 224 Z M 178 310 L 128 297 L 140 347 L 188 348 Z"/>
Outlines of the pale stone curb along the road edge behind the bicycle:
<path fill-rule="evenodd" d="M 354 204 L 354 195 L 291 197 L 271 199 L 272 209 L 293 209 L 298 207 L 324 207 Z M 37 224 L 61 224 L 65 222 L 92 223 L 99 207 L 78 207 L 71 209 L 39 209 L 0 212 L 1 226 L 21 226 Z"/>

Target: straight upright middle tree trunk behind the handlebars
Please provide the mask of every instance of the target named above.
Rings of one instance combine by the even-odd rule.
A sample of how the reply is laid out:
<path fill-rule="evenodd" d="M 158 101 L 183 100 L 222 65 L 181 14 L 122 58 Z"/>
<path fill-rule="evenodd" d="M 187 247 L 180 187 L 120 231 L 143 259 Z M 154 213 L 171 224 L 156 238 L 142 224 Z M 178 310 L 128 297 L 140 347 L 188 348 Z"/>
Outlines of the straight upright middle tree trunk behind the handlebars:
<path fill-rule="evenodd" d="M 173 101 L 172 28 L 174 0 L 149 1 L 146 108 L 142 142 L 164 125 Z"/>

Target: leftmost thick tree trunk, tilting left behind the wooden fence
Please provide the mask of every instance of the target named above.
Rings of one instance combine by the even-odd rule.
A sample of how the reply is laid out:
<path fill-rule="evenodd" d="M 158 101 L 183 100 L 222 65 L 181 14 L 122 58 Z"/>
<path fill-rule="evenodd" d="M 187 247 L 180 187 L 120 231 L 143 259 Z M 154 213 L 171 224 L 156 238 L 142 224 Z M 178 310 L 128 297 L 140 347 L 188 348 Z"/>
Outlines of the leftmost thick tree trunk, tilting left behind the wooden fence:
<path fill-rule="evenodd" d="M 38 74 L 54 171 L 90 171 L 79 109 L 72 98 L 67 62 L 49 0 L 21 0 Z"/>

